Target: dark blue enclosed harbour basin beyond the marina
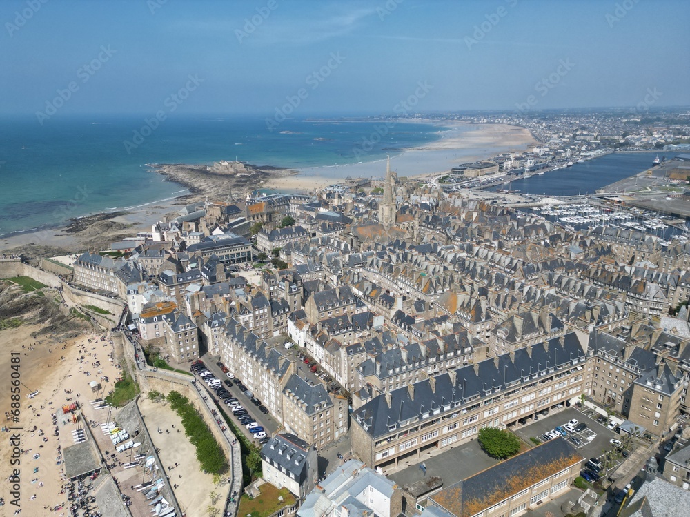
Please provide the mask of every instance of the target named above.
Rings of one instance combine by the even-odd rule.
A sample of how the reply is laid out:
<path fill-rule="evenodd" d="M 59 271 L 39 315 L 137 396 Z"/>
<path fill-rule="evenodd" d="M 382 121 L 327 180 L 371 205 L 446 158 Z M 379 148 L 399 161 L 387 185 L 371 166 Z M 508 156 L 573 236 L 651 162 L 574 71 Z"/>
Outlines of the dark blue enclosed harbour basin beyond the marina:
<path fill-rule="evenodd" d="M 487 190 L 519 190 L 521 194 L 546 196 L 576 196 L 593 194 L 598 188 L 611 185 L 638 172 L 651 168 L 655 156 L 667 160 L 680 154 L 671 152 L 614 152 L 606 156 L 575 163 L 572 167 L 534 174 L 529 178 L 511 181 Z"/>

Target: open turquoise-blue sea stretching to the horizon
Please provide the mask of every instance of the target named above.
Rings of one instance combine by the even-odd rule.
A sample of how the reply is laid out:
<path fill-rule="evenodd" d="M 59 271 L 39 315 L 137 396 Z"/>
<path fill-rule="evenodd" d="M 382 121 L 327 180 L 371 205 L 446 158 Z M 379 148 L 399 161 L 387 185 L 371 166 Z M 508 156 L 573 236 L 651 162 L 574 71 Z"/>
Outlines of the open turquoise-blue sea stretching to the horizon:
<path fill-rule="evenodd" d="M 186 192 L 150 172 L 147 163 L 238 159 L 297 169 L 344 165 L 395 156 L 437 141 L 448 130 L 426 123 L 382 128 L 380 121 L 288 119 L 270 132 L 259 117 L 168 117 L 155 129 L 143 115 L 57 114 L 44 125 L 35 118 L 2 119 L 0 236 Z"/>

